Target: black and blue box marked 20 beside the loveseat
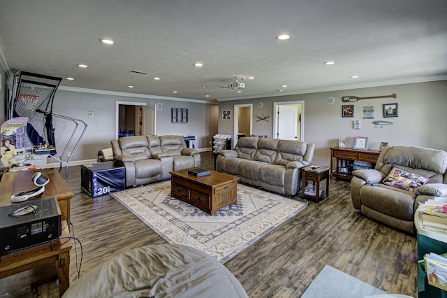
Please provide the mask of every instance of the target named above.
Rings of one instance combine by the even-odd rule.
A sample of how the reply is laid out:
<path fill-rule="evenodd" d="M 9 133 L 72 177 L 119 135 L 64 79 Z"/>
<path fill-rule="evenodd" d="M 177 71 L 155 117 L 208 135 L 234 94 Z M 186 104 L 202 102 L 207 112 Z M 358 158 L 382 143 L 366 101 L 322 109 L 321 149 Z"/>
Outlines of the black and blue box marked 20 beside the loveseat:
<path fill-rule="evenodd" d="M 126 189 L 126 169 L 114 162 L 81 166 L 81 190 L 90 197 Z"/>

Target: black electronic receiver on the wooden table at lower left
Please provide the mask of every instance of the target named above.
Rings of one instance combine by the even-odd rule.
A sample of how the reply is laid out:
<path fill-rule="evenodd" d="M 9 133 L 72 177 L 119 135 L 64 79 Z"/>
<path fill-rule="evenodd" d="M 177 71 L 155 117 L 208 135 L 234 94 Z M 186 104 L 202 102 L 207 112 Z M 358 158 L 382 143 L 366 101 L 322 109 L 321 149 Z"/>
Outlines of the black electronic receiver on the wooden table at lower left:
<path fill-rule="evenodd" d="M 57 239 L 61 228 L 56 198 L 0 207 L 0 255 Z"/>

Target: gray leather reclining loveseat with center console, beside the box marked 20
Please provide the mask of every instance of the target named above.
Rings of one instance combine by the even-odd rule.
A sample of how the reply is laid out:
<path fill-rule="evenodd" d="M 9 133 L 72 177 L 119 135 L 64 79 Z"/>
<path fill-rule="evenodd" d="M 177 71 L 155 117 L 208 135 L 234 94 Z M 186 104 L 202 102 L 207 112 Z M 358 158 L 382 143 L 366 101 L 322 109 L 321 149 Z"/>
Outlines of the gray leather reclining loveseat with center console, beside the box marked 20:
<path fill-rule="evenodd" d="M 200 166 L 200 152 L 183 136 L 125 136 L 111 140 L 113 159 L 126 168 L 126 187 L 169 179 L 170 171 Z"/>

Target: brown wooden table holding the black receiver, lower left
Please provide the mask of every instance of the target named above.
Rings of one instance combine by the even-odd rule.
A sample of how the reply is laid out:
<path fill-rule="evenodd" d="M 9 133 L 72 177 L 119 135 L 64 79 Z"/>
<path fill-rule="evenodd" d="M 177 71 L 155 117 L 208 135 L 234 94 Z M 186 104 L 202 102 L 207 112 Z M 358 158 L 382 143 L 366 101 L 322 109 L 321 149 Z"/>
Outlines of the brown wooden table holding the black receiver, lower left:
<path fill-rule="evenodd" d="M 70 236 L 66 222 L 62 222 L 61 238 Z M 56 264 L 57 278 L 59 279 L 59 296 L 70 285 L 70 250 L 71 239 L 55 239 L 32 248 L 9 253 L 0 257 L 0 278 L 18 274 L 29 269 L 41 267 L 45 264 Z"/>

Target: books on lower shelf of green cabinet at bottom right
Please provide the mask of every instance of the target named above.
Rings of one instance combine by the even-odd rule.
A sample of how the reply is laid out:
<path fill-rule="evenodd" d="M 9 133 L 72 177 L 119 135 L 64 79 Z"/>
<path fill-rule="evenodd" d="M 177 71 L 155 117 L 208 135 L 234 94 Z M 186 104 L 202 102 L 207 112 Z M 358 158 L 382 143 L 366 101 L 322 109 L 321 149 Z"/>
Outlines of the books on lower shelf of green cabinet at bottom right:
<path fill-rule="evenodd" d="M 429 285 L 447 291 L 447 254 L 427 253 L 424 256 L 425 272 Z"/>

